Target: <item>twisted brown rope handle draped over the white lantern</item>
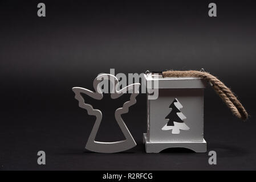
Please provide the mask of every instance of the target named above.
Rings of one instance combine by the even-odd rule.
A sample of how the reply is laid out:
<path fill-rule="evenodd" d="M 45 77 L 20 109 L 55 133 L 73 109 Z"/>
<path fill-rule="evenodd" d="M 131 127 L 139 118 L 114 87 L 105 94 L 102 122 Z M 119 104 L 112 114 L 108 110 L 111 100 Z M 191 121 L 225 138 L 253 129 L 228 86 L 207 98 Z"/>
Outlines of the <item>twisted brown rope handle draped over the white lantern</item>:
<path fill-rule="evenodd" d="M 245 107 L 238 101 L 237 97 L 234 96 L 233 92 L 223 82 L 218 80 L 213 75 L 207 72 L 201 71 L 165 71 L 162 72 L 162 77 L 200 77 L 204 78 L 206 81 L 209 81 L 213 86 L 214 90 L 225 102 L 227 107 L 232 111 L 232 113 L 243 120 L 248 118 L 247 111 Z"/>

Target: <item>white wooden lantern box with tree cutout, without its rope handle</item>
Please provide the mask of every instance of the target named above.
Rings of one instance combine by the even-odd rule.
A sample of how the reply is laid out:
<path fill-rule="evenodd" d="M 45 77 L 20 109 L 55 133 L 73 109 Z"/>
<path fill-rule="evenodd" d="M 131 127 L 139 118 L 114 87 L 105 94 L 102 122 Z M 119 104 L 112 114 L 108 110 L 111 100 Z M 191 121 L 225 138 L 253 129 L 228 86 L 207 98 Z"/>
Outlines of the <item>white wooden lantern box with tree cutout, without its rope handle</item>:
<path fill-rule="evenodd" d="M 158 81 L 158 97 L 153 92 Z M 165 77 L 144 75 L 147 88 L 147 133 L 144 134 L 146 152 L 160 152 L 166 148 L 183 147 L 206 152 L 204 140 L 204 88 L 206 82 L 194 77 Z"/>

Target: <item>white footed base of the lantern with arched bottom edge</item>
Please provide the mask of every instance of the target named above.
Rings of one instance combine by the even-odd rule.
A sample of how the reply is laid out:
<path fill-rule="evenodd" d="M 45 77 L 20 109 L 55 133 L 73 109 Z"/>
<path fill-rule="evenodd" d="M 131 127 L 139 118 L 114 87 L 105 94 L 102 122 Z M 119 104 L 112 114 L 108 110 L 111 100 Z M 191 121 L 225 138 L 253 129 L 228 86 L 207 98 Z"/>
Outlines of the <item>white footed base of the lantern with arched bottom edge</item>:
<path fill-rule="evenodd" d="M 189 148 L 195 152 L 206 152 L 206 141 L 203 142 L 149 142 L 147 134 L 143 134 L 143 143 L 147 153 L 159 153 L 166 148 Z"/>

